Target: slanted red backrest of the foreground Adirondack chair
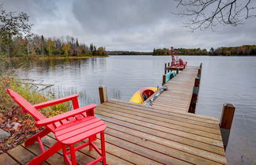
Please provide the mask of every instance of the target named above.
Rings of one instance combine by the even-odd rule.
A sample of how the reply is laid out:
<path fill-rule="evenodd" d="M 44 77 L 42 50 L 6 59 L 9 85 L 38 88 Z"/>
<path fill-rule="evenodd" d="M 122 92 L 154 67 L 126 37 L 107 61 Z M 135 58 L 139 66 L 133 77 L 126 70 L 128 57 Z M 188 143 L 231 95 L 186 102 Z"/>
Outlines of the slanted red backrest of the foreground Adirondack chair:
<path fill-rule="evenodd" d="M 13 100 L 16 103 L 18 103 L 24 111 L 31 114 L 36 119 L 36 121 L 39 121 L 45 118 L 43 114 L 40 113 L 40 111 L 36 110 L 36 108 L 31 103 L 29 103 L 26 99 L 20 96 L 17 92 L 14 92 L 11 89 L 7 89 L 7 92 L 9 93 L 9 96 L 11 96 Z"/>

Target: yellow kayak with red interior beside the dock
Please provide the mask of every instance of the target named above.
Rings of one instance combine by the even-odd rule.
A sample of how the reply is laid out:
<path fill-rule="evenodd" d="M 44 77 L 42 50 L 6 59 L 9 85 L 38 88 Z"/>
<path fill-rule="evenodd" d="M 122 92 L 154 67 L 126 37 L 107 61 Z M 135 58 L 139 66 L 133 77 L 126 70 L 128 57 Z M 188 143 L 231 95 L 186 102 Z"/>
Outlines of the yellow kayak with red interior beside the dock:
<path fill-rule="evenodd" d="M 154 92 L 157 91 L 157 88 L 154 87 L 145 87 L 141 88 L 130 98 L 130 102 L 133 103 L 143 103 L 146 99 L 148 99 Z"/>

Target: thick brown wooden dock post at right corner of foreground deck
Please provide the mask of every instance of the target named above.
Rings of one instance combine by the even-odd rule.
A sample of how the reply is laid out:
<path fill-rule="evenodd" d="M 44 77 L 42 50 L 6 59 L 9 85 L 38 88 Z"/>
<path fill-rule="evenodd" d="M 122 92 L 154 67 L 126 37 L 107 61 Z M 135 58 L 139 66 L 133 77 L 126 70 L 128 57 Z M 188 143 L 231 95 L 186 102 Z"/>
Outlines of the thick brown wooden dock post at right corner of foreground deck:
<path fill-rule="evenodd" d="M 220 117 L 220 132 L 225 151 L 228 146 L 228 138 L 230 134 L 230 129 L 232 127 L 234 114 L 235 106 L 232 103 L 224 103 Z"/>

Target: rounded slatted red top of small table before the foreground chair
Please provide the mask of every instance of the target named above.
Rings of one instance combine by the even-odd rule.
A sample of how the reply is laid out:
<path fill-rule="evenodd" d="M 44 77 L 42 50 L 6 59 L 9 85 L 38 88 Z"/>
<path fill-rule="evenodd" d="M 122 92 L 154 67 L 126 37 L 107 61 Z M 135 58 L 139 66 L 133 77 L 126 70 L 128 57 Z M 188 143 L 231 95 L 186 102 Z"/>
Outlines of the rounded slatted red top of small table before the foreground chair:
<path fill-rule="evenodd" d="M 92 137 L 106 129 L 100 118 L 89 116 L 73 122 L 68 122 L 55 129 L 55 137 L 62 144 L 71 145 Z"/>

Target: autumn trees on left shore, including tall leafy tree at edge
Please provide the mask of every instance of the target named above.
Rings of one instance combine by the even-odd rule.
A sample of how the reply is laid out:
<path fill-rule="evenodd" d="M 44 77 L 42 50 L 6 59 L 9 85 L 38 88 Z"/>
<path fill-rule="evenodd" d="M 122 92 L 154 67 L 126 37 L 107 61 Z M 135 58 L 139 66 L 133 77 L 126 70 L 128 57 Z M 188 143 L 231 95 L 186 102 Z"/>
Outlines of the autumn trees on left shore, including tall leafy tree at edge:
<path fill-rule="evenodd" d="M 77 38 L 45 38 L 32 34 L 26 13 L 6 12 L 0 6 L 0 57 L 56 57 L 106 55 L 105 47 L 86 46 Z"/>

